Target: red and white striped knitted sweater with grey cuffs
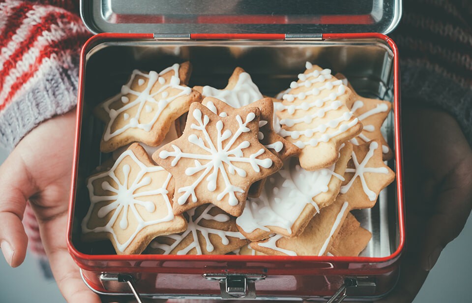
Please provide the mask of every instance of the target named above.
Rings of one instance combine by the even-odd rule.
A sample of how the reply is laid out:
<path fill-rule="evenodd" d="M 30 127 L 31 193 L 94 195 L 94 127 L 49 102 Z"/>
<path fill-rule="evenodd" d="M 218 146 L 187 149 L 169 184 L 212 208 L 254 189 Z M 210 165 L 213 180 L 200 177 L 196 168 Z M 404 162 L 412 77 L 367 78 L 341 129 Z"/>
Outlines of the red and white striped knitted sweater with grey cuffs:
<path fill-rule="evenodd" d="M 80 47 L 90 36 L 78 8 L 78 0 L 0 0 L 0 145 L 12 149 L 37 124 L 75 106 Z M 406 55 L 404 99 L 450 112 L 470 143 L 471 20 L 471 1 L 408 0 L 392 34 Z M 30 250 L 44 255 L 29 207 L 24 224 Z"/>

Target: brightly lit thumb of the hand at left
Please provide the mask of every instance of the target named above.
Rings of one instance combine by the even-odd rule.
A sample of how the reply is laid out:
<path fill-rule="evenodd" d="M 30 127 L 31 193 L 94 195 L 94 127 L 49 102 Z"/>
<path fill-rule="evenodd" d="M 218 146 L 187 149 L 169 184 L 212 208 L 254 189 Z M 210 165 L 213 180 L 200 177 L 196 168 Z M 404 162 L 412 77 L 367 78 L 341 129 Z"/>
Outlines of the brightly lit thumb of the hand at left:
<path fill-rule="evenodd" d="M 6 262 L 17 267 L 25 259 L 28 236 L 22 218 L 34 184 L 15 149 L 0 166 L 0 248 Z"/>

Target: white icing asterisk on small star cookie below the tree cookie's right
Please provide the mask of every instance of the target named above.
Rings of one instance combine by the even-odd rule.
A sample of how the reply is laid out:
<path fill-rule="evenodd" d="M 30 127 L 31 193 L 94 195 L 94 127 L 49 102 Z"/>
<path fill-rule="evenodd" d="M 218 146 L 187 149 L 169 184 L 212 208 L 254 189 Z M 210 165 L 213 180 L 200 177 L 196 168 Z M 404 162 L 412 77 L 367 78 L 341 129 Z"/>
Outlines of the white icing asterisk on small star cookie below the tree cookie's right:
<path fill-rule="evenodd" d="M 372 158 L 374 155 L 374 151 L 379 148 L 379 144 L 375 141 L 371 142 L 369 145 L 369 152 L 365 155 L 364 159 L 361 163 L 357 160 L 357 156 L 355 153 L 352 153 L 352 158 L 354 162 L 355 168 L 347 168 L 346 173 L 354 173 L 353 178 L 344 186 L 341 186 L 340 192 L 345 194 L 353 185 L 355 179 L 359 177 L 360 182 L 362 184 L 362 189 L 364 193 L 367 195 L 370 201 L 375 201 L 377 198 L 377 194 L 369 189 L 367 186 L 367 182 L 365 181 L 364 174 L 365 173 L 376 173 L 376 174 L 388 174 L 388 169 L 386 167 L 365 167 L 367 162 Z"/>

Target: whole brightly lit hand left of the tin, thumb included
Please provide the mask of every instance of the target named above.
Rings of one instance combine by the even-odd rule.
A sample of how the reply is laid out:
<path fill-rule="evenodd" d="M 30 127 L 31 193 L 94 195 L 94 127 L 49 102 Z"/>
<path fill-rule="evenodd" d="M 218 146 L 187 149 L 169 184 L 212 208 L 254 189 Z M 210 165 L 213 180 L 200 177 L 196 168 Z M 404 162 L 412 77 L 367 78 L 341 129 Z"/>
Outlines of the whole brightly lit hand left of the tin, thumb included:
<path fill-rule="evenodd" d="M 28 237 L 22 218 L 29 201 L 64 298 L 69 303 L 99 303 L 66 245 L 74 134 L 75 109 L 33 129 L 0 166 L 0 246 L 10 266 L 25 259 Z"/>

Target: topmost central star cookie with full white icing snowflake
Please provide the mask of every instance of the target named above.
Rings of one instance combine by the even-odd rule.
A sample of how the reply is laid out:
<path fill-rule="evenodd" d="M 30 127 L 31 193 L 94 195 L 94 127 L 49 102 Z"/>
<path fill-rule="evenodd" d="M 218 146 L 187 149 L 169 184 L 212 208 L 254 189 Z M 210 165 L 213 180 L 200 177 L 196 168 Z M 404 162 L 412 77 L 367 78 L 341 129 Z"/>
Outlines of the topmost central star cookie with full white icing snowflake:
<path fill-rule="evenodd" d="M 241 215 L 249 186 L 282 167 L 257 138 L 259 116 L 258 108 L 223 118 L 191 105 L 183 135 L 152 155 L 176 179 L 174 213 L 212 203 Z"/>

